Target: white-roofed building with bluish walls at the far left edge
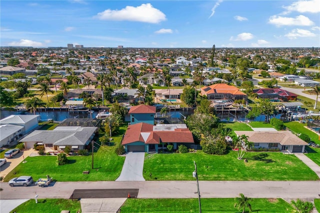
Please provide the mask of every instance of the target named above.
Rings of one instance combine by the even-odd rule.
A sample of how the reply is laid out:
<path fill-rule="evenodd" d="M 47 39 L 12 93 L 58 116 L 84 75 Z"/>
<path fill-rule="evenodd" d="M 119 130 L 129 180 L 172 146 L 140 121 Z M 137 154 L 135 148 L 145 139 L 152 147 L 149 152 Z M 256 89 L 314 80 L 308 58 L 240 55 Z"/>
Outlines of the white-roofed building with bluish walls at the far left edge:
<path fill-rule="evenodd" d="M 0 147 L 18 139 L 38 126 L 39 115 L 10 115 L 0 120 Z"/>

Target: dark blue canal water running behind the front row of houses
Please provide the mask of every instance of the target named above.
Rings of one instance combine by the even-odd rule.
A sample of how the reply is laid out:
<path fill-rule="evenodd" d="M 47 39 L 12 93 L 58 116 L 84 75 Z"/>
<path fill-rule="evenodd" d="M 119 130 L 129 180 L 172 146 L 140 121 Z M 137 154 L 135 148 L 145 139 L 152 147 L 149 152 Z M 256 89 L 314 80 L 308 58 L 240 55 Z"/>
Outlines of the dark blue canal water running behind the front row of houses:
<path fill-rule="evenodd" d="M 97 111 L 92 112 L 92 118 L 94 118 L 97 115 Z M 193 110 L 171 110 L 167 112 L 168 115 L 172 118 L 177 118 L 183 120 L 187 116 L 193 113 Z M 7 117 L 11 114 L 21 114 L 21 112 L 18 112 L 16 110 L 0 110 L 0 119 L 3 119 L 4 117 Z M 26 111 L 23 112 L 23 114 L 31 114 L 30 112 Z M 68 112 L 67 110 L 44 110 L 42 109 L 41 111 L 37 111 L 36 114 L 40 115 L 41 120 L 47 120 L 47 119 L 52 119 L 53 121 L 62 121 L 66 118 L 90 118 L 90 113 L 85 112 L 85 111 L 74 111 L 74 112 Z M 237 112 L 237 113 L 221 113 L 218 112 L 217 116 L 220 118 L 221 121 L 233 121 L 234 118 L 237 120 L 247 120 L 246 118 L 246 112 Z M 276 118 L 280 118 L 280 114 L 277 114 L 275 116 Z M 126 121 L 130 121 L 129 115 L 127 114 L 125 116 Z M 260 115 L 256 118 L 254 118 L 254 121 L 263 121 L 264 120 L 264 115 Z"/>

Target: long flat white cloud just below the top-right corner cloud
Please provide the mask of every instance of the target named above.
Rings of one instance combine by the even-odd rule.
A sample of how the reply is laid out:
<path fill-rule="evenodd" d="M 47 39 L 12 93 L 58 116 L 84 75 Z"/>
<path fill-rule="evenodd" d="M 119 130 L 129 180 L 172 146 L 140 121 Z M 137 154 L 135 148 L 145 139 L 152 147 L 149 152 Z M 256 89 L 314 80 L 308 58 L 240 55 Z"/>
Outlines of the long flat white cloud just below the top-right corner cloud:
<path fill-rule="evenodd" d="M 274 24 L 276 26 L 283 26 L 283 25 L 310 26 L 314 24 L 313 21 L 311 21 L 308 17 L 304 15 L 298 15 L 295 18 L 272 15 L 269 17 L 268 23 Z"/>

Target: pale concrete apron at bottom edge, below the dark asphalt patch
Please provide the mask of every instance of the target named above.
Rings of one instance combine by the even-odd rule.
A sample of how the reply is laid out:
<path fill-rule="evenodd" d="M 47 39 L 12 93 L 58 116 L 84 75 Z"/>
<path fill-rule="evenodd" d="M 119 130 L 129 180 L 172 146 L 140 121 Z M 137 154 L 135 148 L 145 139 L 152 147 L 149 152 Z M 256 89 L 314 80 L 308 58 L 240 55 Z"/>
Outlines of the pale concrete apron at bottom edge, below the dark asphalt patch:
<path fill-rule="evenodd" d="M 85 198 L 80 199 L 81 212 L 99 212 L 115 213 L 121 205 L 125 202 L 126 198 Z"/>

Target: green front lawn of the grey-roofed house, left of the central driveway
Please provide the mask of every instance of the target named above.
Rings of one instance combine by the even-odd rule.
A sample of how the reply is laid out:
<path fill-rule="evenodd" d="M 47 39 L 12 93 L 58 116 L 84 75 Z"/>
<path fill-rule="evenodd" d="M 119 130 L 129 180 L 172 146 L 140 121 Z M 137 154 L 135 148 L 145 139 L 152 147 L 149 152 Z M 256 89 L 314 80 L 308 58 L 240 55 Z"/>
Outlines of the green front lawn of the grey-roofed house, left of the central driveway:
<path fill-rule="evenodd" d="M 101 146 L 94 153 L 94 168 L 91 168 L 92 156 L 68 156 L 68 163 L 56 165 L 56 156 L 33 156 L 26 157 L 26 163 L 20 163 L 9 172 L 4 181 L 10 178 L 30 175 L 33 179 L 49 174 L 57 181 L 97 181 L 115 180 L 121 172 L 125 157 L 115 153 L 116 145 L 119 144 L 127 124 L 120 127 L 119 135 L 112 136 L 113 146 Z M 36 168 L 36 169 L 35 169 Z M 89 174 L 82 174 L 82 171 L 89 170 Z M 16 172 L 16 174 L 14 174 Z"/>

